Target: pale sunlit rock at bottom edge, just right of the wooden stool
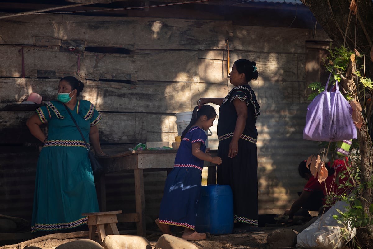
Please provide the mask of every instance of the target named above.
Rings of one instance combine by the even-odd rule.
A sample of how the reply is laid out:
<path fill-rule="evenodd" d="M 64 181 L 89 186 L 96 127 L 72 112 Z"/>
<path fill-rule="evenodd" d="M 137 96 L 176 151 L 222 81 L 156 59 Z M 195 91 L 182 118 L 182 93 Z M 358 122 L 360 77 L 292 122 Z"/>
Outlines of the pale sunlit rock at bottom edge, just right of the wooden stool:
<path fill-rule="evenodd" d="M 102 246 L 105 249 L 152 249 L 147 239 L 136 235 L 107 235 Z"/>

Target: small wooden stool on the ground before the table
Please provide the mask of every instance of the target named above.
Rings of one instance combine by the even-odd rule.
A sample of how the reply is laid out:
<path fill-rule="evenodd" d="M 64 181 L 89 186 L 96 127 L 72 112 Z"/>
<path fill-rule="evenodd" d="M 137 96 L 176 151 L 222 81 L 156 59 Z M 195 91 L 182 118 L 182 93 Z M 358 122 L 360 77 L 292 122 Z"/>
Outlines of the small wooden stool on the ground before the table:
<path fill-rule="evenodd" d="M 122 211 L 83 213 L 82 216 L 88 216 L 87 225 L 89 228 L 88 239 L 94 240 L 96 228 L 98 233 L 98 242 L 102 245 L 106 235 L 119 234 L 116 224 L 118 223 L 117 214 Z"/>

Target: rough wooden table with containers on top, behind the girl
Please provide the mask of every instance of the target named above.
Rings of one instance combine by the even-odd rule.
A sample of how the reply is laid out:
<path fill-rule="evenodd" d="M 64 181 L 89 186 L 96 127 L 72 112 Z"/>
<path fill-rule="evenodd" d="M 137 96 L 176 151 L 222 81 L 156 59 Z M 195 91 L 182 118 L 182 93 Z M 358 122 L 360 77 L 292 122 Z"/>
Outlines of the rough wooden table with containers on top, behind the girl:
<path fill-rule="evenodd" d="M 146 236 L 145 224 L 145 194 L 144 194 L 144 170 L 167 171 L 172 170 L 177 150 L 132 150 L 112 156 L 99 158 L 105 173 L 134 172 L 135 177 L 135 206 L 136 213 L 118 214 L 119 222 L 136 222 L 137 234 Z M 217 150 L 210 150 L 212 156 L 217 155 Z M 207 183 L 216 183 L 216 164 L 205 162 L 208 169 Z M 101 176 L 98 183 L 98 199 L 101 211 L 106 211 L 106 187 L 105 175 Z"/>

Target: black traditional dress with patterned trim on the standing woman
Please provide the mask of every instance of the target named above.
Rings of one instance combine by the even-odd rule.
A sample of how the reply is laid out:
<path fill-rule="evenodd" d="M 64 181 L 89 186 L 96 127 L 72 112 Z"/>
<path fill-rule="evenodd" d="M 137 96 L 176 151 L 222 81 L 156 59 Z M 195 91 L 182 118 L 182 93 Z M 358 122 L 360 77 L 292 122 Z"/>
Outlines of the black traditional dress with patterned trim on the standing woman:
<path fill-rule="evenodd" d="M 248 117 L 244 132 L 238 140 L 238 154 L 229 158 L 229 143 L 237 121 L 234 99 L 247 104 Z M 231 186 L 234 219 L 250 225 L 258 225 L 258 132 L 255 123 L 259 114 L 260 107 L 254 91 L 249 85 L 239 85 L 223 99 L 217 124 L 218 156 L 222 158 L 222 164 L 217 167 L 217 183 Z"/>

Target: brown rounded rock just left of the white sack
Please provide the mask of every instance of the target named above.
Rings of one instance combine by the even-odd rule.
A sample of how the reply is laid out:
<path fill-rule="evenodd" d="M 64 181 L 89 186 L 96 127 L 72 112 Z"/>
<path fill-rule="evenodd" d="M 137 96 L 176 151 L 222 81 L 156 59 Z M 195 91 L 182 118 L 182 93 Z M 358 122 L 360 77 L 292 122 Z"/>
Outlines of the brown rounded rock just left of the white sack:
<path fill-rule="evenodd" d="M 295 230 L 281 228 L 268 234 L 267 243 L 273 249 L 294 247 L 297 243 L 297 235 L 298 232 Z"/>

